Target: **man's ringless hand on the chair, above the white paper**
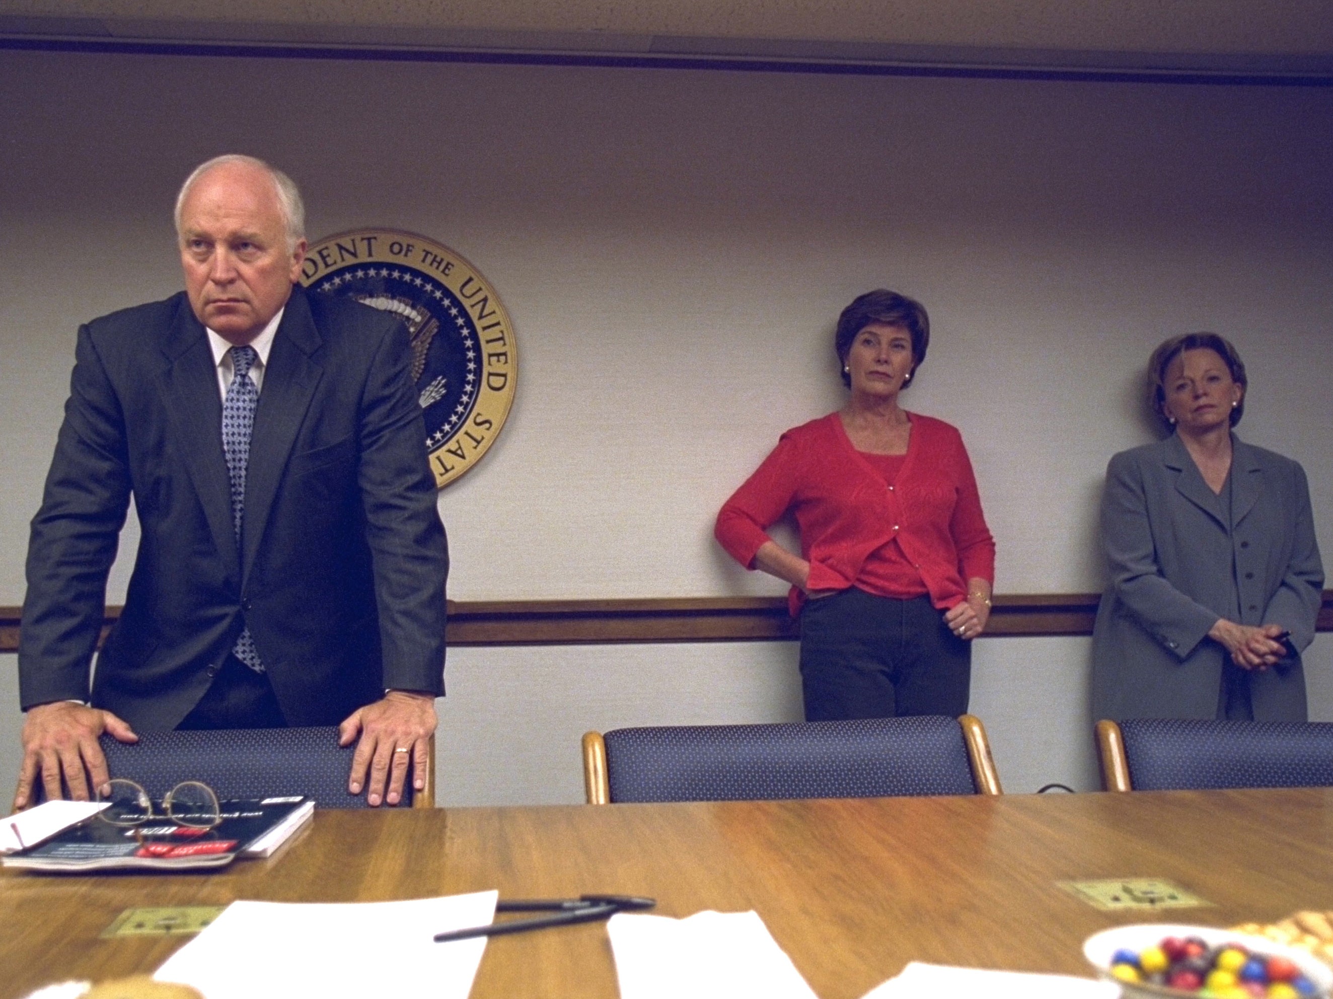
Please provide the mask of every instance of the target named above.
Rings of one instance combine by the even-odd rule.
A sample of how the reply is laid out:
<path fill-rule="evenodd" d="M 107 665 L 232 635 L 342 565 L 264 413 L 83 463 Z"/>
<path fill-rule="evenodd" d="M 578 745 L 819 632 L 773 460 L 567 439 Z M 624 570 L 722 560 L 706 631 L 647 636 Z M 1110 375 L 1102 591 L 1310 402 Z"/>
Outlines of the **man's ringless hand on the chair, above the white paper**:
<path fill-rule="evenodd" d="M 91 801 L 111 779 L 107 758 L 97 745 L 104 731 L 119 742 L 139 742 L 133 729 L 111 711 L 72 701 L 29 707 L 23 723 L 23 769 L 13 794 L 15 811 L 32 805 L 39 777 L 47 801 L 64 798 L 64 789 L 76 802 Z"/>

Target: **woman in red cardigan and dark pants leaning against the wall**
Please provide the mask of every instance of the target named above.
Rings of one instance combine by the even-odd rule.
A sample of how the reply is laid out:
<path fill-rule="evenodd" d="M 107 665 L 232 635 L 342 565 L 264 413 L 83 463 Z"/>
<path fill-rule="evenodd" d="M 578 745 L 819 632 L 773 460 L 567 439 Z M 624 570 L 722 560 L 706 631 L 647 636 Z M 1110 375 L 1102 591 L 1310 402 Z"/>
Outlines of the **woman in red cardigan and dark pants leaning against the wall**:
<path fill-rule="evenodd" d="M 929 342 L 912 298 L 848 305 L 834 338 L 846 405 L 782 434 L 717 514 L 736 561 L 792 583 L 808 721 L 968 710 L 996 546 L 962 437 L 898 406 Z M 800 555 L 766 534 L 788 510 Z"/>

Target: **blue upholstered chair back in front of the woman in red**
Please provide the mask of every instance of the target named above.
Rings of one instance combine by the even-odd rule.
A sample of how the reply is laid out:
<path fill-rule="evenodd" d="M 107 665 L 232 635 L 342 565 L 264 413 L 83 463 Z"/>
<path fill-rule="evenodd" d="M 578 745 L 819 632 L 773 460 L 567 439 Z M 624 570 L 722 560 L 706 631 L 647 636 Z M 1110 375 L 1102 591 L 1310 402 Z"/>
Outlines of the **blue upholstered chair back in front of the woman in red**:
<path fill-rule="evenodd" d="M 956 718 L 690 725 L 605 734 L 612 802 L 974 794 Z"/>

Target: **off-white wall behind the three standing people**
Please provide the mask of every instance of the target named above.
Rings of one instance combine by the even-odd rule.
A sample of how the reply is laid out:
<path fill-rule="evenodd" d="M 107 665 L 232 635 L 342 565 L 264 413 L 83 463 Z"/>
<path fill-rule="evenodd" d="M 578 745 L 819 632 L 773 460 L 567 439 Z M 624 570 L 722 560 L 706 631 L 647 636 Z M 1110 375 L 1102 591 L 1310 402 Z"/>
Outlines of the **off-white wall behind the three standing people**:
<path fill-rule="evenodd" d="M 180 286 L 171 200 L 227 151 L 291 172 L 313 237 L 413 229 L 500 289 L 519 396 L 441 493 L 456 599 L 778 593 L 712 518 L 840 404 L 833 321 L 881 285 L 930 309 L 904 398 L 962 429 L 1001 593 L 1100 589 L 1106 458 L 1150 438 L 1141 366 L 1189 329 L 1238 344 L 1241 433 L 1305 465 L 1333 550 L 1328 89 L 7 52 L 0 93 L 0 603 L 23 598 L 76 324 Z M 1308 658 L 1333 718 L 1333 645 Z M 789 643 L 449 662 L 452 802 L 577 799 L 587 727 L 798 714 Z M 1012 790 L 1093 782 L 1086 671 L 1086 639 L 977 647 Z"/>

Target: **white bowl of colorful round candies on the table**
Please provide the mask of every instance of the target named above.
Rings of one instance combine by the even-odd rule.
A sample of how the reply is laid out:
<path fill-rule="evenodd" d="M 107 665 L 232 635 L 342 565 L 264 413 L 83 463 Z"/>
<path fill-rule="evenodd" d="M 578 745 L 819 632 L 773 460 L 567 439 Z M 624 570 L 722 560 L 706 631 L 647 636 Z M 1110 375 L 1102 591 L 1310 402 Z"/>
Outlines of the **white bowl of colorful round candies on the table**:
<path fill-rule="evenodd" d="M 1212 926 L 1102 930 L 1084 956 L 1125 996 L 1328 999 L 1333 968 L 1308 951 Z"/>

